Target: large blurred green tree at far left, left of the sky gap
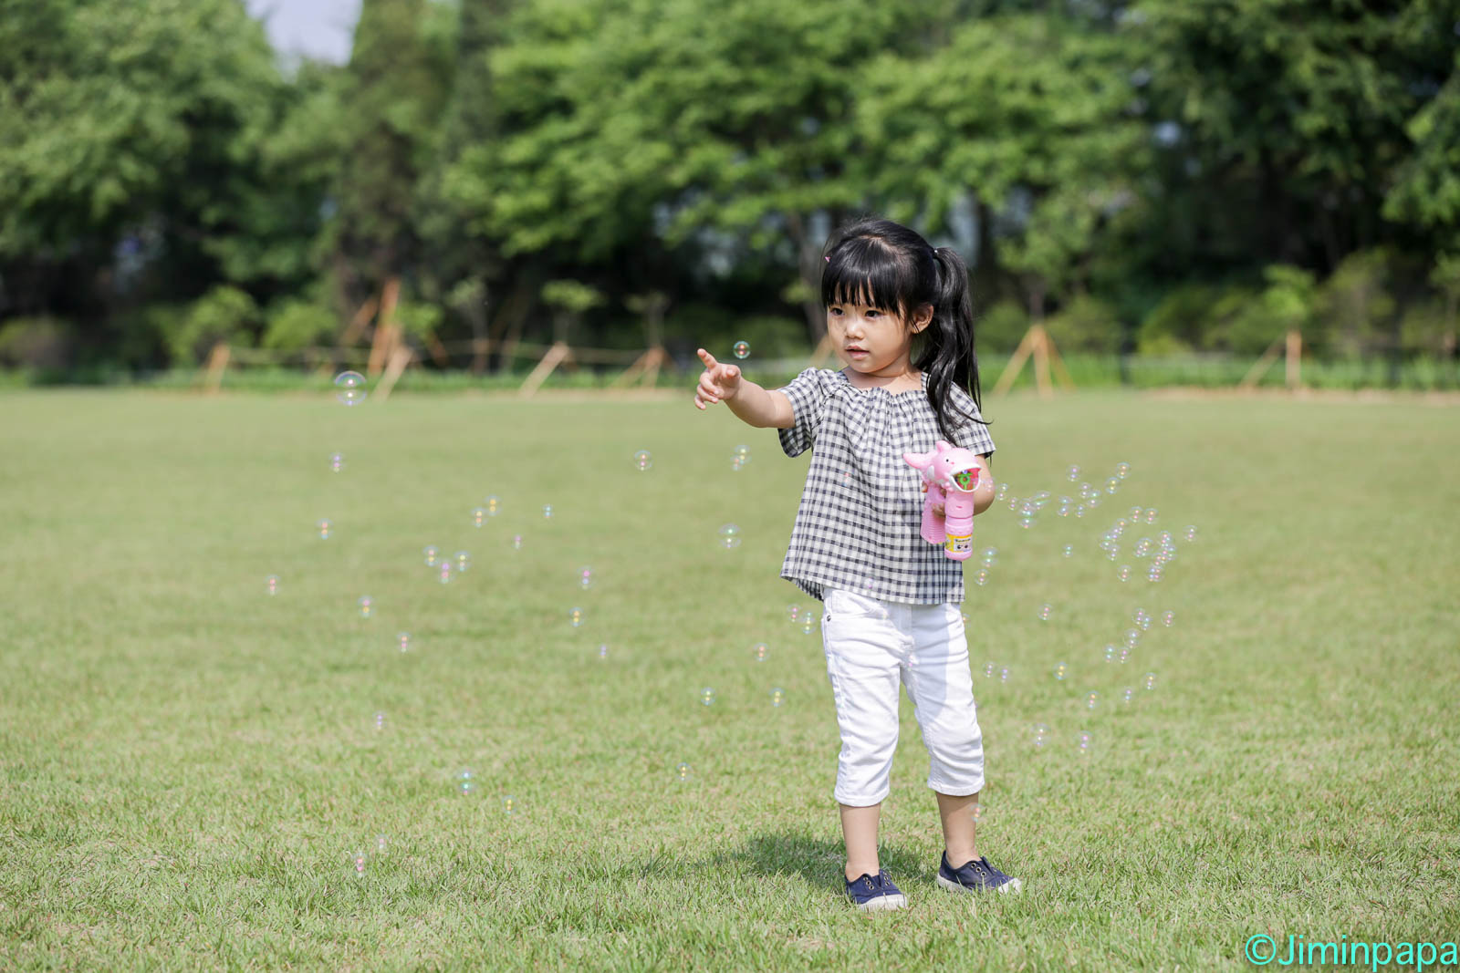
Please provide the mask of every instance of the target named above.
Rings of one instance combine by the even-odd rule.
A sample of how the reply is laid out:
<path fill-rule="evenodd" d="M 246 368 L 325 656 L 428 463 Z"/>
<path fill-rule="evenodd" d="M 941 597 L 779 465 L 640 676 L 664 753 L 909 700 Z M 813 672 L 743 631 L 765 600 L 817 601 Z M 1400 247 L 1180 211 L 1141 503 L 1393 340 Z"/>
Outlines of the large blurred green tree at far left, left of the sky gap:
<path fill-rule="evenodd" d="M 311 226 L 266 159 L 292 98 L 235 0 L 7 4 L 0 314 L 64 311 L 95 343 L 130 303 L 298 283 Z"/>

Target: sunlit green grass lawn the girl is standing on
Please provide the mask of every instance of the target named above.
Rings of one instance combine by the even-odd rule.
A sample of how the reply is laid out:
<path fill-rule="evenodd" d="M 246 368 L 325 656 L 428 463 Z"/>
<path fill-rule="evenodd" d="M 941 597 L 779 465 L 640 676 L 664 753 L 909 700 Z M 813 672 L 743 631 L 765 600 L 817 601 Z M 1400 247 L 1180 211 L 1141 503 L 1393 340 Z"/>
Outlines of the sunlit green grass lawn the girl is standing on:
<path fill-rule="evenodd" d="M 1132 473 L 1080 519 L 977 522 L 980 850 L 1025 893 L 933 884 L 904 697 L 882 861 L 910 909 L 869 916 L 821 633 L 787 617 L 815 602 L 778 578 L 807 457 L 772 430 L 688 391 L 0 394 L 0 967 L 1206 970 L 1253 934 L 1460 938 L 1460 411 L 986 406 L 1016 496 Z M 1096 550 L 1133 505 L 1178 535 L 1159 584 Z M 439 584 L 426 544 L 470 570 Z M 1175 624 L 1104 662 L 1137 607 Z"/>

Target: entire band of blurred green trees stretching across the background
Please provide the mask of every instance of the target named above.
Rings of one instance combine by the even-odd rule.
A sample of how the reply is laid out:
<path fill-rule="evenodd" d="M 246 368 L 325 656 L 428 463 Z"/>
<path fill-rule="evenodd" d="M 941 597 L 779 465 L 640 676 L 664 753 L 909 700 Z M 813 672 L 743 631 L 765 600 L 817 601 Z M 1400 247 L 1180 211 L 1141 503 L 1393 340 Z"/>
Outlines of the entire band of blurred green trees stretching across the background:
<path fill-rule="evenodd" d="M 0 319 L 64 319 L 83 357 L 194 360 L 222 286 L 270 346 L 324 340 L 391 277 L 418 340 L 632 346 L 599 336 L 657 290 L 762 347 L 799 314 L 794 347 L 860 213 L 1018 302 L 990 350 L 1021 308 L 1089 349 L 1140 318 L 1146 354 L 1453 347 L 1441 0 L 366 0 L 346 67 L 288 74 L 237 0 L 10 7 Z"/>

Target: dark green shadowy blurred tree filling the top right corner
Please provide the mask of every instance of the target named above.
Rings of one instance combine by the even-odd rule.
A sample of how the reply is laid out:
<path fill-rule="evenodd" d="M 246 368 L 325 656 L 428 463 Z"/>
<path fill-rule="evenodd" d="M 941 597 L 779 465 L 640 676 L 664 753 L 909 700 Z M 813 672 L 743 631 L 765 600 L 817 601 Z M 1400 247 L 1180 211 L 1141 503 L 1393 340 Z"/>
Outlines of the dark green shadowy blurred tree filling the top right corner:
<path fill-rule="evenodd" d="M 1158 191 L 1181 197 L 1148 223 L 1156 267 L 1327 273 L 1397 242 L 1381 207 L 1410 131 L 1434 133 L 1434 163 L 1456 144 L 1454 111 L 1424 111 L 1454 70 L 1453 0 L 1142 0 L 1133 13 Z M 1421 165 L 1416 185 L 1441 168 Z"/>

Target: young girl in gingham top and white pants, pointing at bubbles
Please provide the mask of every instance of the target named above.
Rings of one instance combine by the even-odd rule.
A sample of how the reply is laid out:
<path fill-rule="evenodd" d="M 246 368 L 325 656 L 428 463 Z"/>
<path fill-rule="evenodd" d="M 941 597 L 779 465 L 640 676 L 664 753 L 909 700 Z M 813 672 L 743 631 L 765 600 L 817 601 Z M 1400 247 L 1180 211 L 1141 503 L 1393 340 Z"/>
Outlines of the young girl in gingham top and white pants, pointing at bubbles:
<path fill-rule="evenodd" d="M 917 709 L 927 785 L 943 818 L 937 883 L 1018 891 L 1021 880 L 974 855 L 984 750 L 959 610 L 962 562 L 923 540 L 921 477 L 902 460 L 930 452 L 939 439 L 971 449 L 981 457 L 974 512 L 993 503 L 994 443 L 978 414 L 968 270 L 953 251 L 933 249 L 888 220 L 834 233 L 825 257 L 826 334 L 847 368 L 809 368 L 768 391 L 699 349 L 705 372 L 695 406 L 723 401 L 750 426 L 774 426 L 788 457 L 816 446 L 781 576 L 825 604 L 847 894 L 861 909 L 907 906 L 877 864 L 899 677 Z M 915 363 L 914 336 L 921 336 Z"/>

